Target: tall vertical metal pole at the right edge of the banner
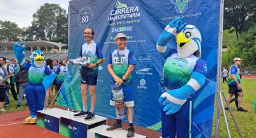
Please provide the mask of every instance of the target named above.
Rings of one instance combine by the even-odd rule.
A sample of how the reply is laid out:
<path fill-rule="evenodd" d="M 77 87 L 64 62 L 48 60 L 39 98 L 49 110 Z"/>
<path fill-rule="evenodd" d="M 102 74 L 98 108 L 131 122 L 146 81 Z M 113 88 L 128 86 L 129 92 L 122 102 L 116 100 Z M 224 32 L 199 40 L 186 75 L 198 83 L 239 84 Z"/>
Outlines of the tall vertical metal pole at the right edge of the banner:
<path fill-rule="evenodd" d="M 220 128 L 220 79 L 222 67 L 222 34 L 223 34 L 223 8 L 224 0 L 220 1 L 220 19 L 219 19 L 219 40 L 218 40 L 218 55 L 217 55 L 217 99 L 216 99 L 216 122 L 215 122 L 215 137 L 219 137 Z"/>

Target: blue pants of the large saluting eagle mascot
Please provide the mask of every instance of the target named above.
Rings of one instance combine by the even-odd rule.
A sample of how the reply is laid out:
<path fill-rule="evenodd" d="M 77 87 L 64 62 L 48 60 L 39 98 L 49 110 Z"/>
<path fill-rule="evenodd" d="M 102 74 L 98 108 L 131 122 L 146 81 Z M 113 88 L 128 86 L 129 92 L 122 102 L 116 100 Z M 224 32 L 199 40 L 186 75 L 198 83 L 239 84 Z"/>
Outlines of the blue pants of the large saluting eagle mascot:
<path fill-rule="evenodd" d="M 181 109 L 171 115 L 165 115 L 166 112 L 163 111 L 163 107 L 161 108 L 163 138 L 174 138 L 175 136 L 178 138 L 189 137 L 189 128 L 191 127 L 189 123 L 192 122 L 192 118 L 189 116 L 189 108 L 192 106 L 190 101 L 192 101 L 192 98 L 188 98 Z"/>

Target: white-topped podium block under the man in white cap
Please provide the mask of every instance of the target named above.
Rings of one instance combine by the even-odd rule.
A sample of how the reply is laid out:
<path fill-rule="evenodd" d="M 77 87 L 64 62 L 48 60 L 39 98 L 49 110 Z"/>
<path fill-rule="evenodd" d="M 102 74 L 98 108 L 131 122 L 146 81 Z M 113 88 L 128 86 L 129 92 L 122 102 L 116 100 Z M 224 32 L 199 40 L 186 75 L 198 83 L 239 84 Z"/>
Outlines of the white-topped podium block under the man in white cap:
<path fill-rule="evenodd" d="M 126 130 L 114 130 L 114 131 L 107 131 L 106 129 L 110 127 L 108 125 L 100 125 L 95 128 L 91 128 L 87 131 L 87 137 L 90 138 L 124 138 L 128 131 Z M 136 131 L 136 130 L 135 130 Z M 135 138 L 145 138 L 146 136 L 142 136 L 140 134 L 134 134 Z"/>

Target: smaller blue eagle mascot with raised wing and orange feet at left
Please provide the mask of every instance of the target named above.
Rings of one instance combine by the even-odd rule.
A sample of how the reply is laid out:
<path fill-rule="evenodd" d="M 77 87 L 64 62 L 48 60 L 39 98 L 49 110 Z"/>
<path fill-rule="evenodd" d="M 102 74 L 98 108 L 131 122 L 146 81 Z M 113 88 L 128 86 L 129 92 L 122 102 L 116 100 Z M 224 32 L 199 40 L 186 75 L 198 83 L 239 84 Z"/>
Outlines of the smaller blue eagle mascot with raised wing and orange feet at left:
<path fill-rule="evenodd" d="M 17 61 L 28 71 L 28 85 L 25 89 L 30 116 L 25 119 L 24 124 L 36 124 L 37 111 L 43 110 L 45 105 L 46 90 L 57 76 L 45 65 L 45 54 L 35 50 L 30 54 L 31 64 L 25 61 L 26 44 L 16 42 L 13 44 L 13 52 Z"/>

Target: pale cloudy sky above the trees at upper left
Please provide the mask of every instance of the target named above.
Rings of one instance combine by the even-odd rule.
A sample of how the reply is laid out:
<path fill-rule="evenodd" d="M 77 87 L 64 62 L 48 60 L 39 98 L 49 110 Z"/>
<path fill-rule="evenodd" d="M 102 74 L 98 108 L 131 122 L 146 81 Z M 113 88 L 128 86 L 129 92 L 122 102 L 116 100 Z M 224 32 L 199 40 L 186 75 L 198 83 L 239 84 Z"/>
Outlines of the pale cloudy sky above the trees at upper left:
<path fill-rule="evenodd" d="M 33 14 L 45 3 L 59 4 L 67 13 L 70 0 L 0 0 L 0 20 L 15 22 L 19 28 L 31 26 Z"/>

